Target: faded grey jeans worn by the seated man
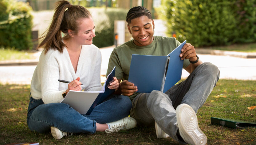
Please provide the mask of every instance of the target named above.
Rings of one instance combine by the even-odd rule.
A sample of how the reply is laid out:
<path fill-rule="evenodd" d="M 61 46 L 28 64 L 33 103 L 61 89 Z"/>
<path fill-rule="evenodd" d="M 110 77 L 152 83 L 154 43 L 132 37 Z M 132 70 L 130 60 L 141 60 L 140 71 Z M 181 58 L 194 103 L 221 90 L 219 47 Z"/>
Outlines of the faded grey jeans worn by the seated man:
<path fill-rule="evenodd" d="M 183 143 L 176 135 L 176 107 L 186 103 L 197 112 L 218 80 L 218 67 L 209 62 L 202 63 L 186 80 L 174 85 L 165 93 L 154 90 L 137 95 L 132 101 L 130 115 L 136 119 L 139 126 L 154 126 L 156 121 L 172 139 Z"/>

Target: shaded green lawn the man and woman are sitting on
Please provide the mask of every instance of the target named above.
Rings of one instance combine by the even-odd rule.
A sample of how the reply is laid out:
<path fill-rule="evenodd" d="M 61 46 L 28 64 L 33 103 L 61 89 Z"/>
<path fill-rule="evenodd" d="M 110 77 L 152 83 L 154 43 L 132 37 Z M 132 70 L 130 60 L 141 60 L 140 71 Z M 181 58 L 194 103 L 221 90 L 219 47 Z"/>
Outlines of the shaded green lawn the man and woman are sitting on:
<path fill-rule="evenodd" d="M 116 133 L 75 133 L 54 139 L 50 132 L 32 132 L 26 115 L 30 85 L 0 84 L 0 144 L 39 142 L 40 144 L 177 144 L 171 138 L 157 139 L 154 127 L 133 128 Z M 256 81 L 219 80 L 205 104 L 198 110 L 199 127 L 207 144 L 256 144 L 256 128 L 233 129 L 212 125 L 211 117 L 256 122 Z"/>

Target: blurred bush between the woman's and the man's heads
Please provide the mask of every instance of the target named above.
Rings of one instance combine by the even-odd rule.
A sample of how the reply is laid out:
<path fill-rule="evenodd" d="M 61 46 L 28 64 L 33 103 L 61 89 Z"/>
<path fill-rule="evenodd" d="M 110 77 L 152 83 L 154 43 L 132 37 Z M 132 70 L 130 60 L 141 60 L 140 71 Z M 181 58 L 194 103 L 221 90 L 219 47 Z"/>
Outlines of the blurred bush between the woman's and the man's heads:
<path fill-rule="evenodd" d="M 128 10 L 117 8 L 89 8 L 94 18 L 95 35 L 93 44 L 106 47 L 114 44 L 114 21 L 125 20 Z"/>

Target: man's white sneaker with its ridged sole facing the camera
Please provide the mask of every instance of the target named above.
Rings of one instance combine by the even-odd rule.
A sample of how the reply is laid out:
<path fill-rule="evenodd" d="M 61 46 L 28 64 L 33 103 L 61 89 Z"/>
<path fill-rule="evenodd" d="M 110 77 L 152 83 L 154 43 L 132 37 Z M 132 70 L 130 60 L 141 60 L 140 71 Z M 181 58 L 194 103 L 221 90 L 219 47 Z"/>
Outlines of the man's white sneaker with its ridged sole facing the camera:
<path fill-rule="evenodd" d="M 176 108 L 177 127 L 179 134 L 186 143 L 192 145 L 205 145 L 207 137 L 199 128 L 196 113 L 187 104 L 180 104 Z"/>

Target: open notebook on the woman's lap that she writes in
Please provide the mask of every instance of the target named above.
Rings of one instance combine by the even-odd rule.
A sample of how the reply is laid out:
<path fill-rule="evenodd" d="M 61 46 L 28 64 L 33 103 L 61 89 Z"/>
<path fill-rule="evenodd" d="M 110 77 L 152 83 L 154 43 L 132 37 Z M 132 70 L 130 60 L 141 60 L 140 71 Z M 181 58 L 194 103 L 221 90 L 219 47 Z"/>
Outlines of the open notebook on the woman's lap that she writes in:
<path fill-rule="evenodd" d="M 72 91 L 70 90 L 61 103 L 69 104 L 72 108 L 77 110 L 81 114 L 90 115 L 94 107 L 102 103 L 111 94 L 115 92 L 115 89 L 109 89 L 108 84 L 113 80 L 115 76 L 116 67 L 107 76 L 104 85 L 100 91 Z"/>

